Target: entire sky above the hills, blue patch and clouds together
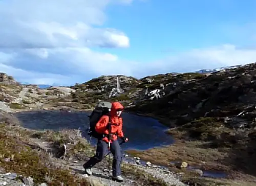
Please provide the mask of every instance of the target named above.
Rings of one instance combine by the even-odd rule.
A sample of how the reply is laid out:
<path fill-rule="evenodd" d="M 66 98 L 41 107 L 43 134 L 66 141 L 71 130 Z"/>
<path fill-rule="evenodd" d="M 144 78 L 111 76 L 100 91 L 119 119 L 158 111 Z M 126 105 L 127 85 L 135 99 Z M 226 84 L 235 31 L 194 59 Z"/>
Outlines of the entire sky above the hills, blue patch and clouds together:
<path fill-rule="evenodd" d="M 0 72 L 71 85 L 256 60 L 252 0 L 2 0 Z"/>

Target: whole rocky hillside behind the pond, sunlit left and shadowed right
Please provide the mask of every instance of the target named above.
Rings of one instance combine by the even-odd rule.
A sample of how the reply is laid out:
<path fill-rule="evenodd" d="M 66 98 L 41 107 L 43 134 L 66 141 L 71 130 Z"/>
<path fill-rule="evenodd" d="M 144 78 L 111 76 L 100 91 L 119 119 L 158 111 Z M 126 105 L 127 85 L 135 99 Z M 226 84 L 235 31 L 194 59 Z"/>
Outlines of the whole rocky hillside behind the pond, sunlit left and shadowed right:
<path fill-rule="evenodd" d="M 142 79 L 118 76 L 118 81 L 123 91 L 112 97 L 116 76 L 101 76 L 71 86 L 76 90 L 71 94 L 72 101 L 89 105 L 98 100 L 121 101 L 128 110 L 168 119 L 172 127 L 200 117 L 225 118 L 238 114 L 236 121 L 226 118 L 226 122 L 236 123 L 237 127 L 244 126 L 239 124 L 247 119 L 247 126 L 254 122 L 251 114 L 256 94 L 255 63 L 211 74 L 164 74 Z M 156 89 L 160 98 L 150 95 Z"/>

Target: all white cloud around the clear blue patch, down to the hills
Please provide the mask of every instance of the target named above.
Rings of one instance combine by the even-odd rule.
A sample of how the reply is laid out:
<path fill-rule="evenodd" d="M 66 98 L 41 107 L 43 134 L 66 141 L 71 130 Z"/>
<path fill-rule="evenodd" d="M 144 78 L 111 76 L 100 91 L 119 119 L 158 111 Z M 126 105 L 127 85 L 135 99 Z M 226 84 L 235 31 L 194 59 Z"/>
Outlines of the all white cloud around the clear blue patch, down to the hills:
<path fill-rule="evenodd" d="M 22 82 L 70 85 L 100 75 L 140 78 L 256 59 L 255 49 L 230 44 L 146 63 L 93 51 L 91 47 L 130 47 L 129 37 L 118 28 L 103 28 L 104 9 L 111 3 L 128 5 L 132 0 L 0 1 L 0 17 L 4 17 L 0 19 L 0 71 Z"/>

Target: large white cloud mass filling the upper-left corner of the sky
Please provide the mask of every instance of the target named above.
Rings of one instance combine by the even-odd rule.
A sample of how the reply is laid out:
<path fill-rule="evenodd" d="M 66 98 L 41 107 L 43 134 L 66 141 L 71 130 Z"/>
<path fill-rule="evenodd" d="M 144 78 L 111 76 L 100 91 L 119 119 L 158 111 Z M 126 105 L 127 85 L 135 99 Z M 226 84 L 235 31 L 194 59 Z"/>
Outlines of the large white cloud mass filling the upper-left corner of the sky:
<path fill-rule="evenodd" d="M 93 28 L 105 20 L 109 0 L 0 1 L 1 48 L 129 47 L 114 29 Z"/>

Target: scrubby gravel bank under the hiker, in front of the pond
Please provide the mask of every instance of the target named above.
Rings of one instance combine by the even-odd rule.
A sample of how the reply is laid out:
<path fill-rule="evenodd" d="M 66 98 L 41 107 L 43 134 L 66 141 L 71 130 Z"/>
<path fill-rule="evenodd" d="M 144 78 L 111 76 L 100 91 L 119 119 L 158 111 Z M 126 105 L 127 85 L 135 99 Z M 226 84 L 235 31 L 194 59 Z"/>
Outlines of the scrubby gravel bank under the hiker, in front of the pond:
<path fill-rule="evenodd" d="M 26 153 L 27 151 L 22 151 L 24 152 L 22 155 L 17 155 L 15 153 L 15 156 L 11 157 L 11 161 L 4 160 L 8 158 L 8 154 L 1 157 L 0 159 L 1 162 L 3 162 L 2 166 L 4 167 L 4 173 L 11 172 L 17 175 L 26 177 L 29 176 L 34 178 L 36 183 L 46 182 L 47 184 L 50 183 L 50 185 L 53 186 L 60 185 L 60 182 L 75 186 L 77 183 L 80 183 L 80 181 L 83 181 L 82 183 L 84 184 L 82 185 L 84 186 L 103 186 L 108 184 L 108 176 L 104 176 L 106 175 L 105 169 L 108 167 L 108 162 L 106 159 L 103 159 L 99 165 L 94 167 L 93 171 L 97 172 L 97 174 L 89 177 L 84 175 L 82 164 L 94 154 L 95 149 L 88 143 L 87 139 L 84 139 L 81 134 L 78 134 L 79 130 L 63 129 L 58 132 L 53 130 L 41 132 L 38 130 L 27 129 L 20 126 L 19 121 L 16 120 L 11 113 L 3 113 L 4 114 L 2 115 L 0 121 L 3 129 L 2 132 L 0 132 L 1 137 L 8 143 L 12 142 L 12 146 L 8 146 L 7 149 L 11 150 L 11 154 L 14 154 L 14 152 L 17 150 L 16 148 L 25 148 L 31 152 L 31 154 L 28 154 Z M 18 147 L 16 147 L 16 141 L 19 143 Z M 0 143 L 1 151 L 6 150 L 4 144 L 1 146 Z M 67 154 L 61 150 L 61 144 L 67 145 Z M 51 154 L 51 152 L 53 154 Z M 66 158 L 61 159 L 61 156 L 59 157 L 59 153 L 64 154 L 63 156 Z M 33 167 L 33 170 L 35 171 L 27 171 L 27 165 L 16 163 L 16 161 L 23 161 L 24 158 L 27 159 L 29 168 Z M 42 158 L 40 160 L 45 167 L 41 166 L 41 161 L 38 164 L 35 163 L 34 159 L 38 158 Z M 50 158 L 50 161 L 48 158 Z M 14 164 L 16 166 L 15 169 L 13 169 L 12 166 Z M 47 167 L 48 165 L 51 167 Z M 59 167 L 59 165 L 61 165 L 61 167 Z M 42 171 L 42 173 L 40 171 Z M 49 171 L 51 171 L 51 176 L 53 176 L 51 180 L 45 178 L 45 172 L 47 174 Z M 136 183 L 145 183 L 148 186 L 167 186 L 169 184 L 176 184 L 178 182 L 180 183 L 180 186 L 184 185 L 182 182 L 180 182 L 179 176 L 168 170 L 166 170 L 166 172 L 159 167 L 147 167 L 144 165 L 136 165 L 135 162 L 123 162 L 122 171 L 126 183 L 130 186 L 136 186 Z M 67 177 L 70 179 L 67 180 Z M 72 182 L 72 180 L 75 180 L 76 182 Z M 54 183 L 51 184 L 51 181 L 54 181 Z M 121 184 L 115 183 L 115 185 Z"/>

